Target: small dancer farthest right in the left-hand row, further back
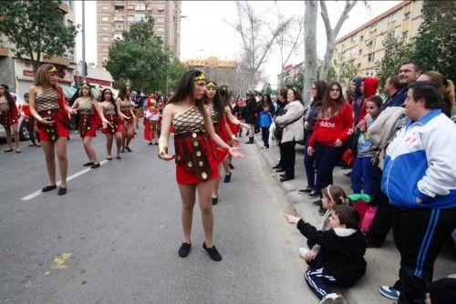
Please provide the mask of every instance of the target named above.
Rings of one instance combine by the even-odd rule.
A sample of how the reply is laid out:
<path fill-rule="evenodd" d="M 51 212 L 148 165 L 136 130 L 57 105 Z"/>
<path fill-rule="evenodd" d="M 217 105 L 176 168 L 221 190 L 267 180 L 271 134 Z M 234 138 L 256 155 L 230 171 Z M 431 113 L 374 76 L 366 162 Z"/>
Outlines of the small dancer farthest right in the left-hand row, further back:
<path fill-rule="evenodd" d="M 119 96 L 116 100 L 116 104 L 120 109 L 120 115 L 122 116 L 122 148 L 120 152 L 125 150 L 131 152 L 129 147 L 131 139 L 135 137 L 135 116 L 133 115 L 133 107 L 135 103 L 131 101 L 130 87 L 124 86 L 120 89 Z"/>

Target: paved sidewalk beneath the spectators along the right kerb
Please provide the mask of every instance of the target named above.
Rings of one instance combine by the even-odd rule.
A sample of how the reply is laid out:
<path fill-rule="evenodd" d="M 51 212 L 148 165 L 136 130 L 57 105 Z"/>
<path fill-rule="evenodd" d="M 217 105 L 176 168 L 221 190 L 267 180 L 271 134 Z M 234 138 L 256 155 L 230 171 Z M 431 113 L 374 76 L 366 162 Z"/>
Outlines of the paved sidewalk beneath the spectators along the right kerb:
<path fill-rule="evenodd" d="M 243 137 L 243 140 L 246 137 Z M 305 218 L 312 225 L 319 226 L 321 216 L 318 214 L 318 207 L 312 205 L 312 201 L 316 198 L 307 198 L 306 194 L 301 194 L 297 190 L 307 186 L 306 171 L 304 168 L 304 146 L 296 145 L 296 163 L 295 163 L 295 179 L 281 183 L 279 175 L 272 168 L 279 159 L 279 148 L 273 144 L 268 149 L 260 150 L 263 146 L 261 136 L 255 136 L 255 144 L 265 160 L 266 165 L 269 165 L 270 172 L 276 178 L 276 182 L 280 184 L 285 192 L 286 197 L 292 207 L 295 209 L 297 216 Z M 344 177 L 343 174 L 347 170 L 336 167 L 333 173 L 334 184 L 342 187 L 347 195 L 352 193 L 350 189 L 350 179 Z M 306 238 L 303 237 L 303 247 L 306 246 Z M 297 248 L 296 248 L 297 254 Z M 352 289 L 343 289 L 342 294 L 349 304 L 367 304 L 367 303 L 391 303 L 390 299 L 384 298 L 378 293 L 380 285 L 392 286 L 399 278 L 399 251 L 394 245 L 392 232 L 389 232 L 387 241 L 382 248 L 368 248 L 364 256 L 368 262 L 368 269 L 363 279 L 360 279 L 357 285 Z M 304 272 L 305 269 L 303 269 Z M 434 265 L 433 279 L 445 278 L 451 273 L 456 272 L 455 258 L 451 257 L 450 252 L 443 248 L 439 258 Z M 306 284 L 303 279 L 303 284 Z"/>

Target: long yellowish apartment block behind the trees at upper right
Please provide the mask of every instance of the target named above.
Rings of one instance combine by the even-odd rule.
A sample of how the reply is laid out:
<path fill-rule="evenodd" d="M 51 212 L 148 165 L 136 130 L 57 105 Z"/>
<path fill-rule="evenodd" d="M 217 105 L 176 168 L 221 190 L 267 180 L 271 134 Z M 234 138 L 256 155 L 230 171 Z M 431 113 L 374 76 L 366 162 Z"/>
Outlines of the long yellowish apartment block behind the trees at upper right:
<path fill-rule="evenodd" d="M 376 76 L 385 54 L 383 39 L 388 35 L 408 42 L 418 35 L 423 22 L 422 1 L 403 1 L 368 23 L 337 39 L 333 60 L 336 72 L 343 63 L 358 66 L 359 75 Z"/>

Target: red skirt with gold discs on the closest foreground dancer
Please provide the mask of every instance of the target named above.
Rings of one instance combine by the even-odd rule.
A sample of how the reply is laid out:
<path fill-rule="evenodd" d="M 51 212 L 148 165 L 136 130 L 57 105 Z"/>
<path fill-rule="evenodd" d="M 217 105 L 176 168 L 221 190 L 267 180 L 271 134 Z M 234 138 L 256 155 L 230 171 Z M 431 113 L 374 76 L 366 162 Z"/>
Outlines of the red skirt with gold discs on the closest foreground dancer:
<path fill-rule="evenodd" d="M 197 143 L 197 144 L 196 144 Z M 219 176 L 212 143 L 204 133 L 174 136 L 176 180 L 180 185 L 195 185 Z"/>

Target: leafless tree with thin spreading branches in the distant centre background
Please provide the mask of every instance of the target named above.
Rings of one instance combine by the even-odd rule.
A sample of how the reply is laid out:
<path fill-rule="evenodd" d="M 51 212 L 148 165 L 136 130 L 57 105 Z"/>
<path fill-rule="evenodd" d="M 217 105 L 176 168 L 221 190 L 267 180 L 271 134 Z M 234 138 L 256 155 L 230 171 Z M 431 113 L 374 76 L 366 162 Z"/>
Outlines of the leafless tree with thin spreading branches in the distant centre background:
<path fill-rule="evenodd" d="M 251 3 L 236 1 L 236 6 L 239 20 L 233 27 L 242 38 L 242 61 L 246 72 L 243 78 L 249 88 L 254 88 L 258 83 L 255 75 L 263 66 L 277 37 L 289 29 L 294 18 L 284 18 L 277 25 L 268 25 L 263 15 L 255 13 Z"/>

